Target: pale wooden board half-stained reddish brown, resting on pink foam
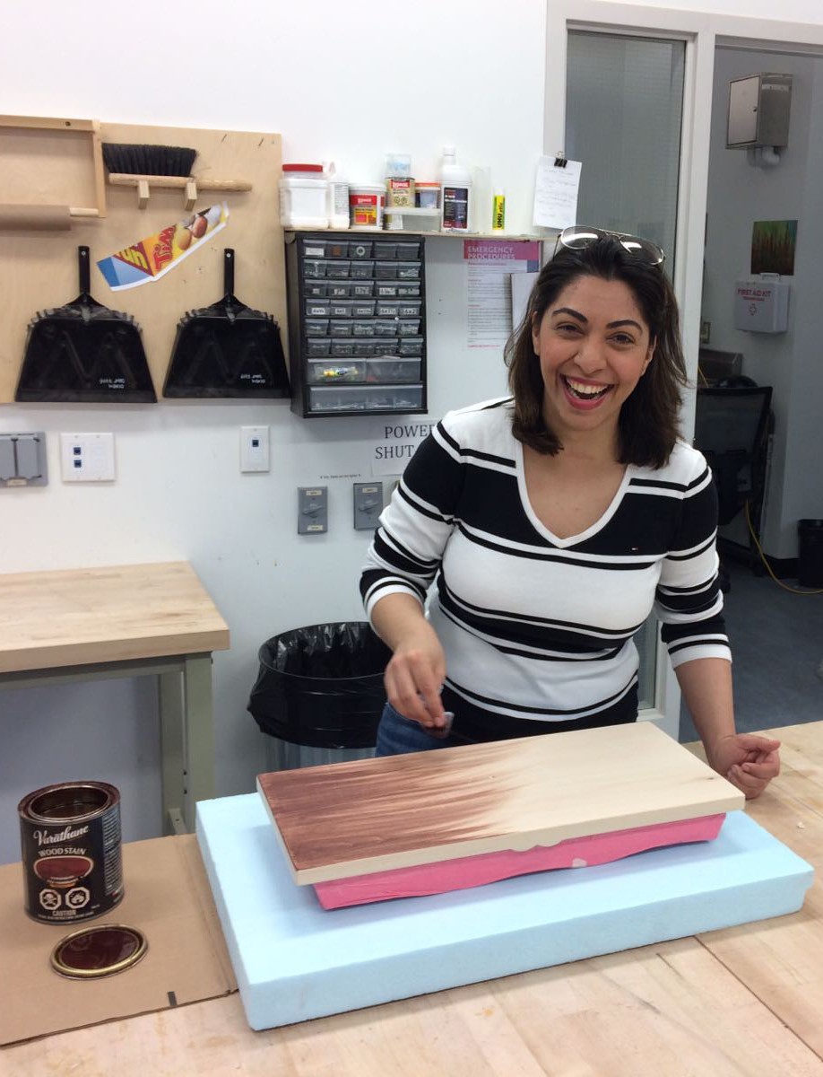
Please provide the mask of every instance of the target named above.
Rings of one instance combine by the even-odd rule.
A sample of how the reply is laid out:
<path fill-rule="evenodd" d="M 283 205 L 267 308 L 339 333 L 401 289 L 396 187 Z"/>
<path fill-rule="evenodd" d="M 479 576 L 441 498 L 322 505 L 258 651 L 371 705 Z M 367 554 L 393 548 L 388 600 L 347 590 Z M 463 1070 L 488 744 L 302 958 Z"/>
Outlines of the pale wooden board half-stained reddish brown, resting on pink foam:
<path fill-rule="evenodd" d="M 300 884 L 743 807 L 648 722 L 276 771 L 257 787 Z"/>

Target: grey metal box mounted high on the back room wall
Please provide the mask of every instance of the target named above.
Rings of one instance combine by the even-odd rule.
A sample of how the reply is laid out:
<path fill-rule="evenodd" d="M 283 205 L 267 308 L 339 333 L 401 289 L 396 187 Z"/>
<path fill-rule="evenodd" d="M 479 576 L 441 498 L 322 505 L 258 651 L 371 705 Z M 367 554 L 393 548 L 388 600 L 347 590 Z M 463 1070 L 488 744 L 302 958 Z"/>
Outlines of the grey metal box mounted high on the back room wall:
<path fill-rule="evenodd" d="M 762 72 L 728 84 L 726 149 L 789 145 L 792 75 Z"/>

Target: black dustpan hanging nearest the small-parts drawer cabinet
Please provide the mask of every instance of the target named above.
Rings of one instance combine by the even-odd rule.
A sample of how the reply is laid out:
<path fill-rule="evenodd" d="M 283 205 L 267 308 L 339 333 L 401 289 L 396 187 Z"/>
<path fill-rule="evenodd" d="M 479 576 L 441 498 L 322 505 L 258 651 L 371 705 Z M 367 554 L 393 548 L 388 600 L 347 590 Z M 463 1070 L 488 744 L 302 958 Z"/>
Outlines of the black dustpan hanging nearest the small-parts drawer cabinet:
<path fill-rule="evenodd" d="M 223 260 L 226 294 L 178 323 L 164 396 L 289 396 L 278 323 L 233 294 L 235 252 Z"/>

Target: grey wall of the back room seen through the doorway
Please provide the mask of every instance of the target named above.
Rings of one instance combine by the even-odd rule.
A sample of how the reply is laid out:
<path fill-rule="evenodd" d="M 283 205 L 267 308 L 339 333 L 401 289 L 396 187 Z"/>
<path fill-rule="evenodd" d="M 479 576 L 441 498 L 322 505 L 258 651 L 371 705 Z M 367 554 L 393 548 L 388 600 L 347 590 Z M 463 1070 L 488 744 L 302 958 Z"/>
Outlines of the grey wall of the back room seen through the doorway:
<path fill-rule="evenodd" d="M 741 352 L 742 373 L 774 387 L 775 438 L 763 545 L 775 558 L 795 557 L 797 519 L 823 513 L 823 488 L 811 457 L 823 407 L 817 269 L 823 241 L 822 70 L 819 58 L 739 50 L 719 50 L 714 65 L 703 317 L 711 322 L 712 348 Z M 746 152 L 725 148 L 729 80 L 758 71 L 781 71 L 794 79 L 789 146 L 781 152 L 780 165 L 770 169 L 752 167 Z M 798 222 L 789 331 L 736 330 L 734 285 L 749 276 L 752 224 L 777 220 Z M 747 541 L 742 521 L 729 527 L 729 535 Z"/>

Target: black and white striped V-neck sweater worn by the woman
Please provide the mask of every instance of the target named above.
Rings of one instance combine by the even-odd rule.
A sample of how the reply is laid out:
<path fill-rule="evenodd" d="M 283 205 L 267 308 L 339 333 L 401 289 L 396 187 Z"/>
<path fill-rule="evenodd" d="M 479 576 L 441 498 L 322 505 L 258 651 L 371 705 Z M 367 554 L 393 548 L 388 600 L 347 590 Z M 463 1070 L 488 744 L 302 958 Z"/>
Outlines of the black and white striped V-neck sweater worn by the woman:
<path fill-rule="evenodd" d="M 369 548 L 368 616 L 385 595 L 423 604 L 445 652 L 443 704 L 472 739 L 634 721 L 634 634 L 652 610 L 672 665 L 730 658 L 716 495 L 679 442 L 629 465 L 602 517 L 557 538 L 526 495 L 510 398 L 449 412 L 410 461 Z M 547 725 L 549 723 L 550 725 Z"/>

